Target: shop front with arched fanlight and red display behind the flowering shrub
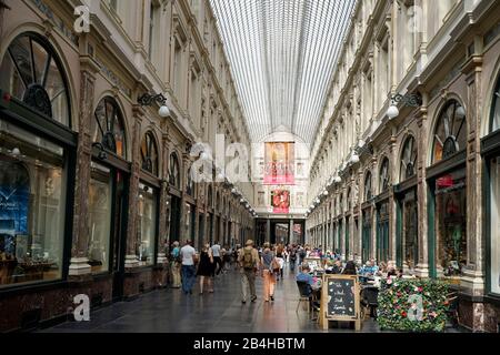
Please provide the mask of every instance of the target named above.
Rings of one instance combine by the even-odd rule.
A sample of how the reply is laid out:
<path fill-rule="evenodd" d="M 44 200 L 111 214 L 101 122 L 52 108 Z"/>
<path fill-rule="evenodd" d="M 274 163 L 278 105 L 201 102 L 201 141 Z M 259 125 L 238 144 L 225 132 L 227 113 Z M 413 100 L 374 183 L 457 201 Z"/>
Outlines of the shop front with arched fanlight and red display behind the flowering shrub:
<path fill-rule="evenodd" d="M 434 128 L 429 186 L 429 266 L 433 277 L 460 283 L 467 265 L 466 111 L 457 100 Z"/>

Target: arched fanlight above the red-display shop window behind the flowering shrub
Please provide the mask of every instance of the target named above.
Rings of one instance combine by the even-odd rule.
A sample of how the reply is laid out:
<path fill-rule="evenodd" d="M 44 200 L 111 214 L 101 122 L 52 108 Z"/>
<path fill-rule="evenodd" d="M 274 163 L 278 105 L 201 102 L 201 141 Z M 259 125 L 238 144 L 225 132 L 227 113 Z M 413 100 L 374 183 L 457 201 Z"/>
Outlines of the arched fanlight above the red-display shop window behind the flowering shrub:
<path fill-rule="evenodd" d="M 442 109 L 436 125 L 432 163 L 466 149 L 466 110 L 457 100 L 450 100 Z"/>

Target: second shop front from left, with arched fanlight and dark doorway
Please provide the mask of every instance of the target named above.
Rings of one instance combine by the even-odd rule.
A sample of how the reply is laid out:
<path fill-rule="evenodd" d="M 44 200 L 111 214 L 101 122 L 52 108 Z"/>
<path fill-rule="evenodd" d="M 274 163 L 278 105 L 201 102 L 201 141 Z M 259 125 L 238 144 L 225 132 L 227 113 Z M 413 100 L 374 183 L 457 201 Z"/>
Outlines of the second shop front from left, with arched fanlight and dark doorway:
<path fill-rule="evenodd" d="M 123 296 L 130 163 L 123 116 L 114 99 L 99 101 L 90 132 L 88 260 L 92 274 L 112 275 L 112 300 L 118 301 Z"/>

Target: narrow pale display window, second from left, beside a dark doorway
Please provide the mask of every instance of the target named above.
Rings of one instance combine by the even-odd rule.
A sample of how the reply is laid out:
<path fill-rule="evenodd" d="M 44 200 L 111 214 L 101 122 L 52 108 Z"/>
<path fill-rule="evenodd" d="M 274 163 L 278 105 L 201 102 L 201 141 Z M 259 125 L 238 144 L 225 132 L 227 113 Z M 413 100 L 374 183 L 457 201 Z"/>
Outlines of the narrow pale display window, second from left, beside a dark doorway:
<path fill-rule="evenodd" d="M 109 270 L 111 235 L 112 175 L 104 166 L 92 162 L 89 189 L 89 264 L 92 273 Z"/>

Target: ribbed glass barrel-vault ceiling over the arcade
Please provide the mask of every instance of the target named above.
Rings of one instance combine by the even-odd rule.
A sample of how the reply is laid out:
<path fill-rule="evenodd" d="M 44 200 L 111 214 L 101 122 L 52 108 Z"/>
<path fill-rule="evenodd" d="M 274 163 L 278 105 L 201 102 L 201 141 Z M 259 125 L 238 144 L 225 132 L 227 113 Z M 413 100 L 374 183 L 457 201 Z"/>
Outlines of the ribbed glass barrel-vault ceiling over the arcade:
<path fill-rule="evenodd" d="M 210 0 L 253 142 L 312 144 L 357 0 Z"/>

